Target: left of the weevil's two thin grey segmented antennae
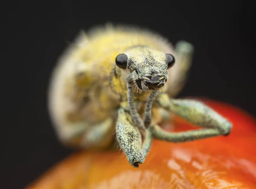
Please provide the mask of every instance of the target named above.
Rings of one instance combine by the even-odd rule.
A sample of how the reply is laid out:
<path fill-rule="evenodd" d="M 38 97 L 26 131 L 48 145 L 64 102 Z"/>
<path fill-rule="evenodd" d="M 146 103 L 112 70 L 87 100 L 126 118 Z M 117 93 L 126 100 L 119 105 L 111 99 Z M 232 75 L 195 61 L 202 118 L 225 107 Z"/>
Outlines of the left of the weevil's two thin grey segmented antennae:
<path fill-rule="evenodd" d="M 137 128 L 142 129 L 145 131 L 145 125 L 143 123 L 143 120 L 140 118 L 139 113 L 137 112 L 137 109 L 134 105 L 134 97 L 133 97 L 133 91 L 132 91 L 132 83 L 127 82 L 127 97 L 128 97 L 128 105 L 130 108 L 130 113 L 131 113 L 131 118 L 134 124 L 136 125 Z"/>

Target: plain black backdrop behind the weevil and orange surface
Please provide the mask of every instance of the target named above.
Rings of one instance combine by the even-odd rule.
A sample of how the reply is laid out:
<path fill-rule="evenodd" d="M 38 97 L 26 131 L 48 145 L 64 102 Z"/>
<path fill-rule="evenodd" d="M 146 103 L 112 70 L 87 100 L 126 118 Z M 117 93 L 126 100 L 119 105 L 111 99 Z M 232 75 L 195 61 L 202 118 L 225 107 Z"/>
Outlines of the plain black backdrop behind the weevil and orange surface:
<path fill-rule="evenodd" d="M 160 32 L 173 43 L 191 42 L 195 57 L 180 97 L 209 97 L 256 115 L 255 11 L 243 2 L 120 1 L 109 7 L 68 0 L 13 3 L 6 9 L 7 33 L 2 37 L 6 60 L 1 91 L 6 107 L 0 132 L 1 186 L 23 188 L 72 152 L 55 137 L 47 113 L 47 85 L 67 42 L 80 29 L 96 24 L 135 24 Z"/>

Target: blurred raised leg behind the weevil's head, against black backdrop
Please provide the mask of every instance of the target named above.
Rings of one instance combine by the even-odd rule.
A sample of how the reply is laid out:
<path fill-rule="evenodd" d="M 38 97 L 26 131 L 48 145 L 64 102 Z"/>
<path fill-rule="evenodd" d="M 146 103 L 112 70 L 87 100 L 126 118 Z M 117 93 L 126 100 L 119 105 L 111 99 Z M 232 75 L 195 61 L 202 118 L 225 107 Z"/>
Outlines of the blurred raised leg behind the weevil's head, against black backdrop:
<path fill-rule="evenodd" d="M 186 77 L 192 63 L 194 47 L 186 41 L 178 41 L 175 46 L 176 63 L 169 70 L 169 83 L 166 93 L 176 96 L 186 83 Z"/>

